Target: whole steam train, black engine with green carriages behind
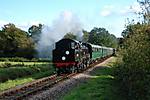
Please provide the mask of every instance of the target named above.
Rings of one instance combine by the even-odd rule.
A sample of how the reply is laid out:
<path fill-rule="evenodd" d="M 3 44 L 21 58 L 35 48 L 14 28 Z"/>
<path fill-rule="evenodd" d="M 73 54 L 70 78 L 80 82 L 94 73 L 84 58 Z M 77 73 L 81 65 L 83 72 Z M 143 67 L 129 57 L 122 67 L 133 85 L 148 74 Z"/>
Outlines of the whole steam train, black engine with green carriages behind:
<path fill-rule="evenodd" d="M 113 55 L 114 49 L 82 43 L 73 39 L 61 39 L 53 50 L 53 64 L 57 74 L 79 72 L 92 62 Z"/>

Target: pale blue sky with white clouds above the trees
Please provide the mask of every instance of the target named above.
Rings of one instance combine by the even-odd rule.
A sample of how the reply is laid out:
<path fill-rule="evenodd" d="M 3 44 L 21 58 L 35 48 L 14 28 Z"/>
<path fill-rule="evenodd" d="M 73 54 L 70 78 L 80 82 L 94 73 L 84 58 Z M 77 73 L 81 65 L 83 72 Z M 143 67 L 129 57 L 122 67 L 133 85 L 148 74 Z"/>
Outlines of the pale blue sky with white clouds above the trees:
<path fill-rule="evenodd" d="M 106 28 L 117 37 L 129 20 L 140 20 L 136 0 L 0 0 L 0 27 L 13 23 L 27 31 L 32 25 L 51 26 L 61 14 L 76 16 L 82 28 Z M 69 27 L 69 26 L 68 26 Z"/>

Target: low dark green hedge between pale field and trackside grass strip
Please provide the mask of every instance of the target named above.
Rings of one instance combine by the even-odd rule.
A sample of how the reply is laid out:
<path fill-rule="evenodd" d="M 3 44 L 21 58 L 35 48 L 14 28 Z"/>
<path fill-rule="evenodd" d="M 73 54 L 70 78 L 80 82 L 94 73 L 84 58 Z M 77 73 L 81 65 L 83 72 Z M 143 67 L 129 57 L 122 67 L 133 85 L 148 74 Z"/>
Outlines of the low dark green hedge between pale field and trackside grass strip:
<path fill-rule="evenodd" d="M 0 68 L 0 82 L 26 77 L 35 73 L 53 70 L 50 65 Z"/>

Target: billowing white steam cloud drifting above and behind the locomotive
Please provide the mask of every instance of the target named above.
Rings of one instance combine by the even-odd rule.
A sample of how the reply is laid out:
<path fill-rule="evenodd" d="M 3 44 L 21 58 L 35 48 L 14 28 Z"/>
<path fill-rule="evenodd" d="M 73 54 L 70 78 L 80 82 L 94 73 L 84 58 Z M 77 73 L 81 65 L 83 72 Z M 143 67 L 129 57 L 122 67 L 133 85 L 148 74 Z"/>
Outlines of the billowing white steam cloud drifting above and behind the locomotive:
<path fill-rule="evenodd" d="M 52 26 L 44 26 L 40 40 L 37 45 L 38 57 L 51 58 L 54 43 L 63 38 L 63 36 L 72 32 L 77 35 L 77 39 L 81 40 L 83 35 L 82 27 L 79 19 L 69 11 L 64 11 L 56 19 Z"/>

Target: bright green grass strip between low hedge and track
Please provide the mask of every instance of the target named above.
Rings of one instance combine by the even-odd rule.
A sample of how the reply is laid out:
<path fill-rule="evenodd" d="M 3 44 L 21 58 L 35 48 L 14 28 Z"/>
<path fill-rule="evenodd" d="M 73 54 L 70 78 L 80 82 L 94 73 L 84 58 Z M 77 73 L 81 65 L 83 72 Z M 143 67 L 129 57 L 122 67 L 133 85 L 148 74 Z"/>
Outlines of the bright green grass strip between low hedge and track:
<path fill-rule="evenodd" d="M 53 74 L 53 70 L 48 70 L 45 72 L 36 73 L 36 74 L 30 75 L 30 76 L 24 77 L 24 78 L 18 78 L 15 80 L 8 80 L 4 83 L 0 83 L 0 91 L 15 87 L 17 85 L 31 82 L 31 81 L 34 81 L 34 80 L 39 79 L 39 78 L 47 77 L 51 74 Z"/>

